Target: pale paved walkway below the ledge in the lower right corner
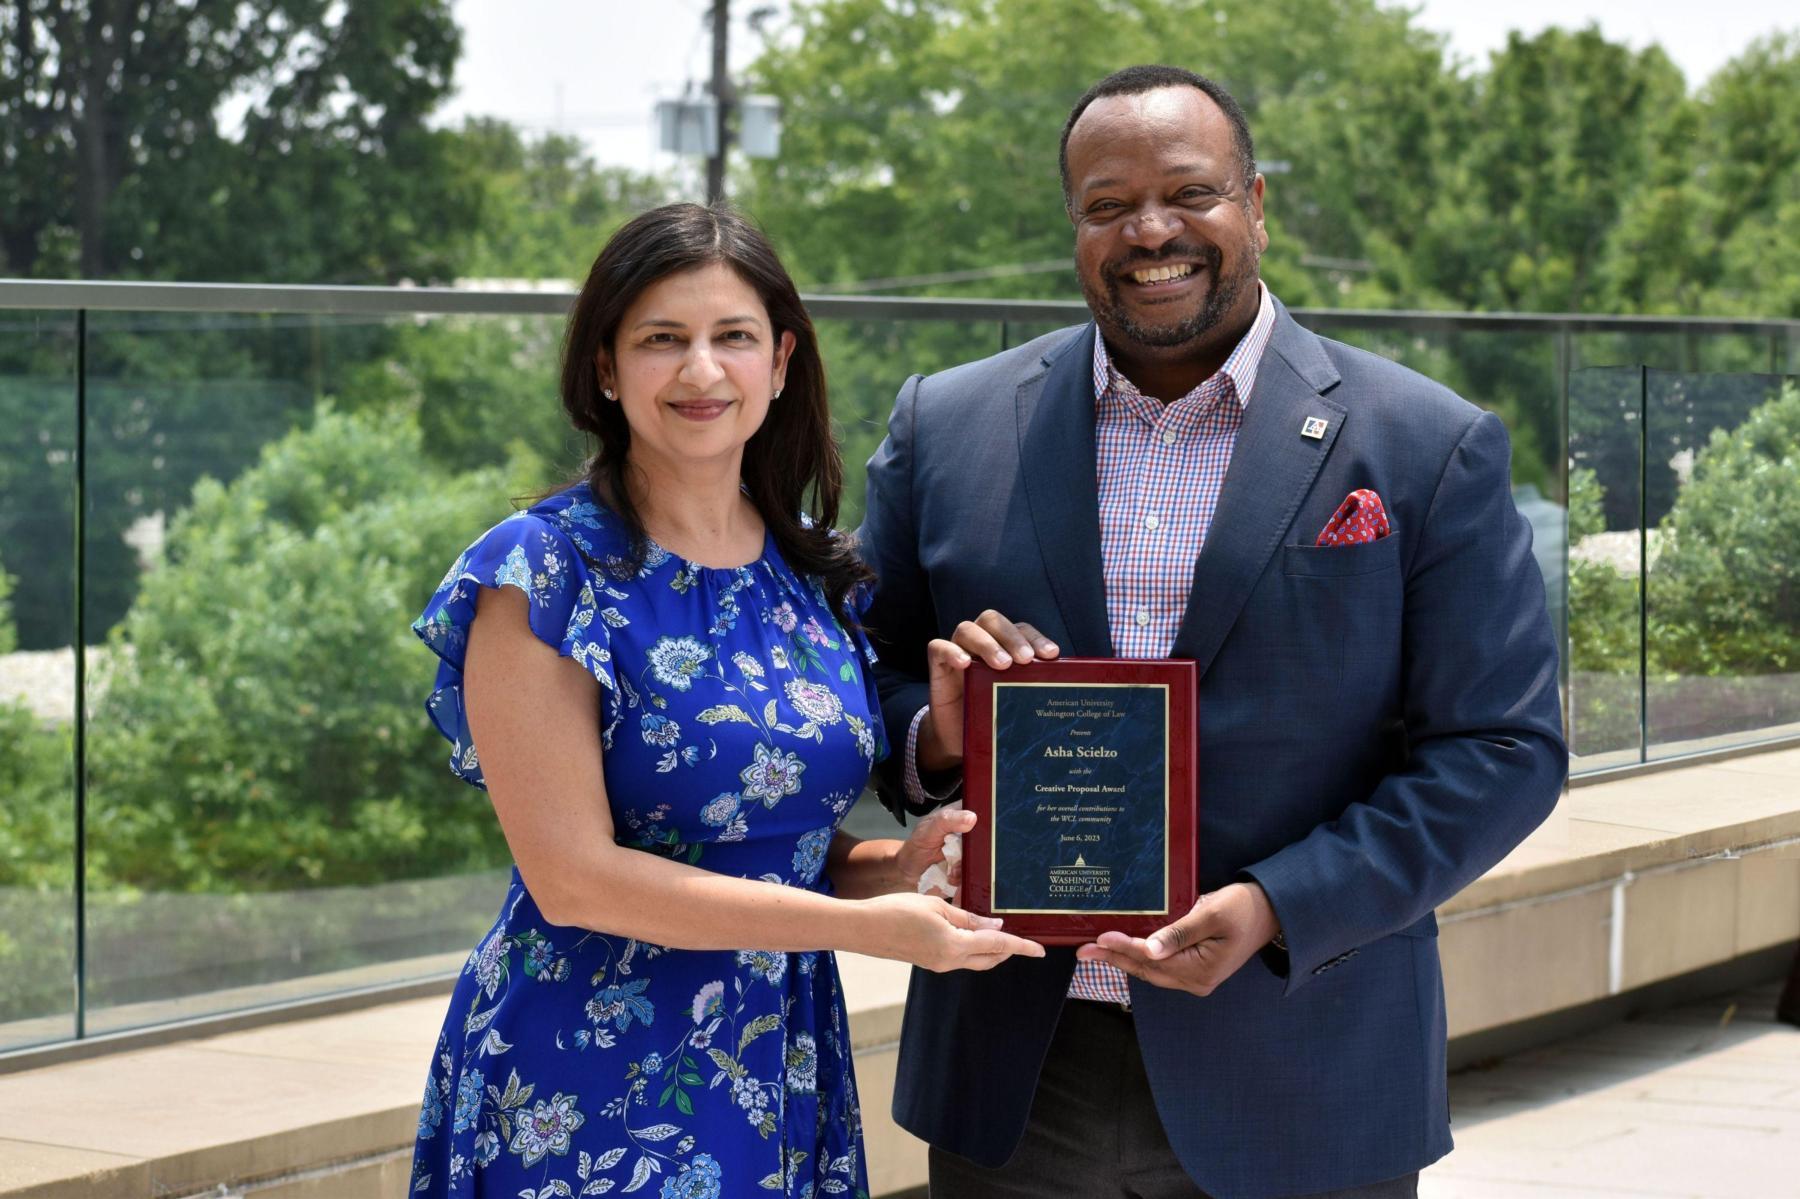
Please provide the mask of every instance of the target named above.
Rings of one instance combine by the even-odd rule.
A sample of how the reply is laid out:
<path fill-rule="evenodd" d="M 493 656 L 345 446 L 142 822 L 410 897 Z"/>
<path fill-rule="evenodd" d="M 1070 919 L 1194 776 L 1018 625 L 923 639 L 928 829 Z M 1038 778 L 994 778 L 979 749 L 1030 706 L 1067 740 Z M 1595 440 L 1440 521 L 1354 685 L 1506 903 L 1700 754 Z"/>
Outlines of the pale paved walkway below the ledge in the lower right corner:
<path fill-rule="evenodd" d="M 1800 1199 L 1800 1028 L 1778 987 L 1670 1008 L 1451 1078 L 1422 1199 Z"/>

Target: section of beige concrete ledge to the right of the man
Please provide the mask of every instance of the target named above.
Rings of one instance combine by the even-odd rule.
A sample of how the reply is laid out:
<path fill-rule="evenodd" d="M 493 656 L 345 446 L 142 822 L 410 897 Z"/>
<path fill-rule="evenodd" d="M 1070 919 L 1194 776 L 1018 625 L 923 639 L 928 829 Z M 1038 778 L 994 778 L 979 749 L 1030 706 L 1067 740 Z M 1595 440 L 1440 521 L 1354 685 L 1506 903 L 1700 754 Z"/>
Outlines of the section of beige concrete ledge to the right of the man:
<path fill-rule="evenodd" d="M 1800 749 L 1570 790 L 1438 911 L 1451 1037 L 1800 938 Z"/>

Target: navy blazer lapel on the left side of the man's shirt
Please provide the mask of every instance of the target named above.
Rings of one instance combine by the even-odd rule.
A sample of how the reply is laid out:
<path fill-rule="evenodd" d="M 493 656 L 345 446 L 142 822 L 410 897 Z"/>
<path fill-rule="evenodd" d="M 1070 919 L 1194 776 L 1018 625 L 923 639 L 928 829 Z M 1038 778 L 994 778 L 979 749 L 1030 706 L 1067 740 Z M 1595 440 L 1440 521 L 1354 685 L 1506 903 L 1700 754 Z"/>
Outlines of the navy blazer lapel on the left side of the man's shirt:
<path fill-rule="evenodd" d="M 1094 326 L 1044 356 L 1019 385 L 1019 457 L 1031 524 L 1071 654 L 1112 655 L 1094 475 Z"/>

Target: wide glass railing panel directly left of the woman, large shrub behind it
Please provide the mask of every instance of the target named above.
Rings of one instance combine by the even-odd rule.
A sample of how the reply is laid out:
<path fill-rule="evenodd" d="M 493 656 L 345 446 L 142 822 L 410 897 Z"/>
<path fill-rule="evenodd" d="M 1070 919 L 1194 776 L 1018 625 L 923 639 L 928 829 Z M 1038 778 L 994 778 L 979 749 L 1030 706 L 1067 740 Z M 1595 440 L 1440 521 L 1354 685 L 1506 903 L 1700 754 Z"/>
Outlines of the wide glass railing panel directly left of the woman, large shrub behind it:
<path fill-rule="evenodd" d="M 92 319 L 90 1030 L 441 974 L 491 924 L 409 625 L 578 463 L 560 329 Z"/>

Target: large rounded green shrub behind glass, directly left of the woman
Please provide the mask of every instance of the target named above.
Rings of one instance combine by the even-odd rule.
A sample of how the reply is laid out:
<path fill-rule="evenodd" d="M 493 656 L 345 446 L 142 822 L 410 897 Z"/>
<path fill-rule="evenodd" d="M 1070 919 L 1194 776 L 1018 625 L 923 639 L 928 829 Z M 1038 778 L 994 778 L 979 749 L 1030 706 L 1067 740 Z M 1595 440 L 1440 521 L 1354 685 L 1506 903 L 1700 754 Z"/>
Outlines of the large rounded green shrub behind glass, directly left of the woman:
<path fill-rule="evenodd" d="M 504 862 L 486 798 L 445 771 L 407 627 L 508 482 L 430 464 L 410 419 L 329 409 L 232 484 L 202 481 L 112 639 L 92 870 L 234 891 Z"/>

